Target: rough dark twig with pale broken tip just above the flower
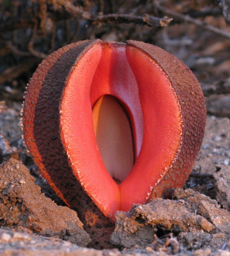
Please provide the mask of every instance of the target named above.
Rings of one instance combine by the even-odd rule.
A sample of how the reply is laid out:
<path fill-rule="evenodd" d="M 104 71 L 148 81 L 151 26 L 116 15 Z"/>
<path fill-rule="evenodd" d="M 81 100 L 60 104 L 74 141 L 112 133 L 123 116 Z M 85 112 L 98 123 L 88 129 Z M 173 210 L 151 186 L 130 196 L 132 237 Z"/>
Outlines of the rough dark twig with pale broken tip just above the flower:
<path fill-rule="evenodd" d="M 134 22 L 136 24 L 148 26 L 167 26 L 172 18 L 163 17 L 158 18 L 148 14 L 142 16 L 135 16 L 133 14 L 91 14 L 83 11 L 79 7 L 73 5 L 66 0 L 48 0 L 49 3 L 63 5 L 65 9 L 74 16 L 80 16 L 83 19 L 95 22 L 113 22 L 113 23 L 127 23 Z"/>

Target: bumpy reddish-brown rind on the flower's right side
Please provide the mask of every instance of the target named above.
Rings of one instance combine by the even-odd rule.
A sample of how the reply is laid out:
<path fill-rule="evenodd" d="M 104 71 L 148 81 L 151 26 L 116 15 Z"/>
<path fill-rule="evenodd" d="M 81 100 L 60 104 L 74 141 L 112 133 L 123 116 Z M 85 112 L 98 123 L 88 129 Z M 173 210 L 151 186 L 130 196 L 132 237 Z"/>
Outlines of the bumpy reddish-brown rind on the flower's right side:
<path fill-rule="evenodd" d="M 182 144 L 176 161 L 155 188 L 148 201 L 168 198 L 172 188 L 181 188 L 192 171 L 199 153 L 206 124 L 203 92 L 193 72 L 169 52 L 150 44 L 128 40 L 127 45 L 148 53 L 167 74 L 180 103 L 183 130 Z"/>

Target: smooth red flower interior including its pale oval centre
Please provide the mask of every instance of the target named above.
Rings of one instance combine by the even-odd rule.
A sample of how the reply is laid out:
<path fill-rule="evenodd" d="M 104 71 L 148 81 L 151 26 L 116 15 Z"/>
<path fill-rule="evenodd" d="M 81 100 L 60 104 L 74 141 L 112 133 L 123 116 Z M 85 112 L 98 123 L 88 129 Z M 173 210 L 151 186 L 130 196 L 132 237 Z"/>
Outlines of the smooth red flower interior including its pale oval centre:
<path fill-rule="evenodd" d="M 141 49 L 97 43 L 72 67 L 60 104 L 62 144 L 81 186 L 111 219 L 147 201 L 177 157 L 182 128 L 168 76 Z"/>

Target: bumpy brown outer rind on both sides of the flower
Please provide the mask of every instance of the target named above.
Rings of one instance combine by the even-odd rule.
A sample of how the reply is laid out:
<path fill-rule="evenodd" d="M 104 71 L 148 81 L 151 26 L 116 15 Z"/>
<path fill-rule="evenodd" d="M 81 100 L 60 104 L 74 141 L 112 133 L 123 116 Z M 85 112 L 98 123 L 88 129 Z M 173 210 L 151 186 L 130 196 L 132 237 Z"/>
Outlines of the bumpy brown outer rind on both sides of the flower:
<path fill-rule="evenodd" d="M 100 42 L 74 43 L 49 55 L 30 81 L 24 109 L 25 140 L 35 163 L 56 193 L 78 212 L 86 231 L 94 234 L 96 244 L 100 237 L 104 240 L 109 237 L 113 224 L 86 195 L 69 168 L 59 136 L 58 108 L 66 78 L 74 64 Z M 153 189 L 149 200 L 168 197 L 173 187 L 183 186 L 199 152 L 206 119 L 204 97 L 193 73 L 175 56 L 143 42 L 127 41 L 128 45 L 145 51 L 159 64 L 169 77 L 180 103 L 184 125 L 181 151 L 161 183 Z"/>

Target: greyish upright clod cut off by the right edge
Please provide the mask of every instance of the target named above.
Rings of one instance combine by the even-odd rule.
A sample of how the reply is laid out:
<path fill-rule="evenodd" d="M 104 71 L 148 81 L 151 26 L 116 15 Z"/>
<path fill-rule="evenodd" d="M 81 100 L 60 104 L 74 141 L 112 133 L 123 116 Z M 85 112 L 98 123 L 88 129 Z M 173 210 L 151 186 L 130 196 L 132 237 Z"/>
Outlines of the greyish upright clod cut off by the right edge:
<path fill-rule="evenodd" d="M 230 166 L 216 165 L 218 172 L 213 174 L 216 199 L 219 204 L 230 211 Z"/>

